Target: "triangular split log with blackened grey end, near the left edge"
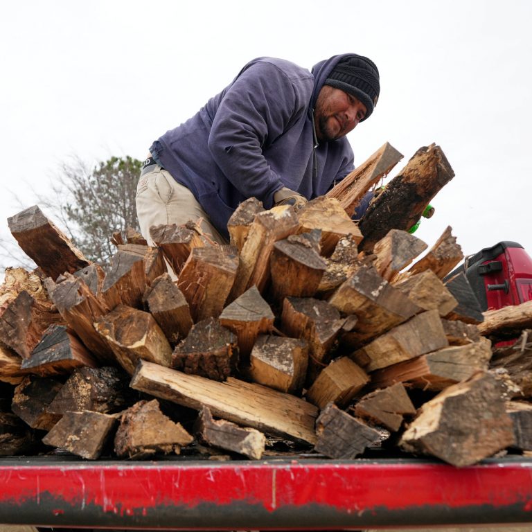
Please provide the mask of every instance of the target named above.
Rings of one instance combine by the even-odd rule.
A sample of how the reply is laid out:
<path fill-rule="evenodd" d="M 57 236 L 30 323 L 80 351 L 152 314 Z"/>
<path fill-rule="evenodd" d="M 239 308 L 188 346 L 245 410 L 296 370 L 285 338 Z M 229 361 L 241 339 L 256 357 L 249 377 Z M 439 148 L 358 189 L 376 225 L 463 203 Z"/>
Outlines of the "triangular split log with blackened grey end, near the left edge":
<path fill-rule="evenodd" d="M 21 369 L 42 377 L 72 373 L 76 368 L 98 364 L 80 339 L 64 325 L 51 325 L 29 358 L 22 361 Z"/>

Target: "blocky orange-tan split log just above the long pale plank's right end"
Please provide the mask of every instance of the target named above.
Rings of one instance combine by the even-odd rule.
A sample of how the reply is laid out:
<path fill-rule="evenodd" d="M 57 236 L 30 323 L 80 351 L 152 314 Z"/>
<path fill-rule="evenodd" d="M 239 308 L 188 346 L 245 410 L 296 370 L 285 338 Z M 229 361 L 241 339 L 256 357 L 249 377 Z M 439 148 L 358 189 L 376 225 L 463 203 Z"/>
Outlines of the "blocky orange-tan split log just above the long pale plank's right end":
<path fill-rule="evenodd" d="M 367 373 L 348 357 L 331 362 L 314 380 L 306 398 L 320 409 L 329 402 L 346 407 L 369 382 Z"/>

